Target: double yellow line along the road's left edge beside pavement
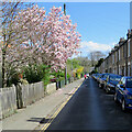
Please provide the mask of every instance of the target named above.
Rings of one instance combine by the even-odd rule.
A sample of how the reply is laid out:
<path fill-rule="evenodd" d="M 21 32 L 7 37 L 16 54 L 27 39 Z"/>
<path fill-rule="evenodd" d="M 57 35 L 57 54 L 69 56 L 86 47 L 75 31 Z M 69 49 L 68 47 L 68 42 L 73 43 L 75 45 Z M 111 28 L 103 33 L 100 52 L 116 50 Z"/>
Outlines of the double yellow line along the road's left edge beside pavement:
<path fill-rule="evenodd" d="M 56 112 L 51 117 L 51 119 L 48 120 L 48 122 L 46 124 L 44 124 L 43 128 L 41 128 L 40 132 L 46 131 L 46 129 L 50 127 L 50 124 L 53 122 L 53 120 L 57 117 L 57 114 L 61 112 L 61 110 L 66 106 L 66 103 L 69 101 L 69 99 L 73 97 L 73 95 L 78 90 L 78 88 L 80 87 L 80 85 L 77 87 L 77 89 L 75 89 L 72 92 L 72 95 L 68 97 L 68 99 L 65 102 L 63 102 L 63 105 L 56 110 Z"/>

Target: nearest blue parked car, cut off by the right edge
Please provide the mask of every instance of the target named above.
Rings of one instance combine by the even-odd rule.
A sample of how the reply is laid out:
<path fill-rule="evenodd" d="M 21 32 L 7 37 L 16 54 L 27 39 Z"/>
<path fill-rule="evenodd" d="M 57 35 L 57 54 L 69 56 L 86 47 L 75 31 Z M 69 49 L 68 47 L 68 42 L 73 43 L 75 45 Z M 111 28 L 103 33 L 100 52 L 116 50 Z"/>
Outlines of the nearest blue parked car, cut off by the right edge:
<path fill-rule="evenodd" d="M 132 77 L 122 77 L 116 87 L 114 101 L 120 102 L 122 110 L 132 109 Z"/>

